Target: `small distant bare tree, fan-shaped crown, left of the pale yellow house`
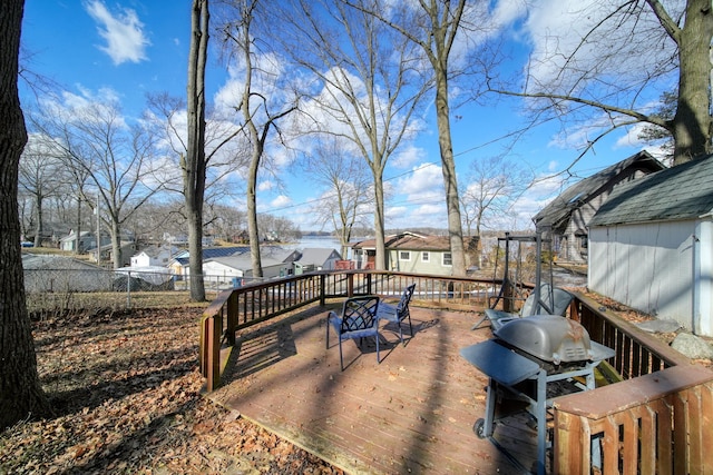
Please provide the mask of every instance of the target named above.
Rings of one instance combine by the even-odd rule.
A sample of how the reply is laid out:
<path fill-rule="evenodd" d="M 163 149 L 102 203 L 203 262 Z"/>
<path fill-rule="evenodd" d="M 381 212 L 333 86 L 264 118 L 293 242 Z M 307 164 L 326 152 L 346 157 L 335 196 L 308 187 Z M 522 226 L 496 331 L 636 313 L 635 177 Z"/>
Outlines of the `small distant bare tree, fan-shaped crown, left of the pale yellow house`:
<path fill-rule="evenodd" d="M 346 256 L 354 226 L 365 226 L 373 209 L 372 181 L 360 157 L 350 154 L 334 137 L 325 137 L 315 145 L 303 167 L 326 194 L 313 207 L 322 226 L 330 224 L 338 234 L 341 254 Z"/>

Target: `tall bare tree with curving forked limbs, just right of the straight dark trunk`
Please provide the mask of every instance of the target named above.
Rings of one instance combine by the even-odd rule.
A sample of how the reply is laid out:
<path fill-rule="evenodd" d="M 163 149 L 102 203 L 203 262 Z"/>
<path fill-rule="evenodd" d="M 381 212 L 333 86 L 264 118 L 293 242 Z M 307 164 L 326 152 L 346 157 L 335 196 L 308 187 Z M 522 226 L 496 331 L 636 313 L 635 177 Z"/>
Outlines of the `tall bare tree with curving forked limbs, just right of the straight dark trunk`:
<path fill-rule="evenodd" d="M 279 132 L 277 122 L 296 110 L 296 98 L 275 103 L 276 93 L 271 98 L 268 91 L 260 90 L 257 87 L 257 82 L 262 81 L 263 86 L 267 83 L 268 88 L 276 92 L 273 82 L 276 78 L 270 77 L 265 69 L 261 69 L 260 60 L 256 58 L 258 49 L 255 43 L 258 38 L 255 36 L 257 29 L 253 27 L 257 16 L 261 14 L 260 3 L 258 0 L 233 1 L 233 11 L 237 20 L 229 22 L 223 29 L 226 46 L 234 51 L 243 73 L 242 92 L 235 110 L 240 113 L 244 137 L 251 147 L 246 198 L 252 267 L 255 277 L 263 276 L 257 226 L 257 176 L 265 158 L 265 147 L 271 130 L 275 129 Z"/>

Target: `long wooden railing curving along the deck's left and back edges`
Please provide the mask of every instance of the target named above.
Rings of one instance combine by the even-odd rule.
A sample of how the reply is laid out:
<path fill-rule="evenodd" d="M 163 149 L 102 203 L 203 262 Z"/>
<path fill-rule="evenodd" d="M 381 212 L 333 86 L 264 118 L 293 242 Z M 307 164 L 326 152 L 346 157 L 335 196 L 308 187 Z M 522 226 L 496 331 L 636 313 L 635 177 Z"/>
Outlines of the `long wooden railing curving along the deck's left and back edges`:
<path fill-rule="evenodd" d="M 498 281 L 380 270 L 304 274 L 224 290 L 201 319 L 201 370 L 206 389 L 221 384 L 221 374 L 235 345 L 235 331 L 328 298 L 379 295 L 398 298 L 416 284 L 413 301 L 431 307 L 482 308 Z"/>

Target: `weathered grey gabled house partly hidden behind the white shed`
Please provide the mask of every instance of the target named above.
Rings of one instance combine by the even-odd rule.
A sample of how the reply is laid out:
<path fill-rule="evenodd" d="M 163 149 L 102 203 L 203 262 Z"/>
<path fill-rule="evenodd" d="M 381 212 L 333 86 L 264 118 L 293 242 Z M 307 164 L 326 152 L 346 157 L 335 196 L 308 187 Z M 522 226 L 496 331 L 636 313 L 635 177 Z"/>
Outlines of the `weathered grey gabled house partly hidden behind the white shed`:
<path fill-rule="evenodd" d="M 545 238 L 553 239 L 557 258 L 587 261 L 587 225 L 612 191 L 665 167 L 641 151 L 567 188 L 533 218 Z"/>

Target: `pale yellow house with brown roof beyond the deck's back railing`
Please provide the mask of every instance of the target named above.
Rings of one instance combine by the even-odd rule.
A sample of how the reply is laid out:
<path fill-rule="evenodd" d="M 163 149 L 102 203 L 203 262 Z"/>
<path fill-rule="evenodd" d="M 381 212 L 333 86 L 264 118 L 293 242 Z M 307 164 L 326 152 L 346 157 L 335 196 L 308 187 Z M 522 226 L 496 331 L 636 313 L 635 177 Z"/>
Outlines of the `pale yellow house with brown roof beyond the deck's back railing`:
<path fill-rule="evenodd" d="M 476 238 L 473 238 L 476 239 Z M 387 268 L 402 273 L 452 275 L 450 239 L 447 236 L 421 236 L 401 232 L 387 236 Z M 466 244 L 466 248 L 475 249 Z M 373 268 L 377 256 L 375 239 L 352 245 L 353 259 L 358 269 Z"/>

